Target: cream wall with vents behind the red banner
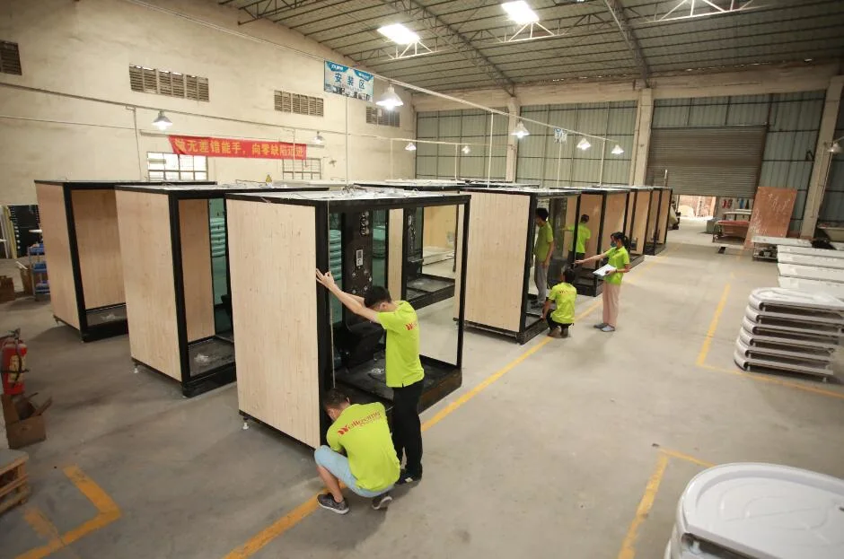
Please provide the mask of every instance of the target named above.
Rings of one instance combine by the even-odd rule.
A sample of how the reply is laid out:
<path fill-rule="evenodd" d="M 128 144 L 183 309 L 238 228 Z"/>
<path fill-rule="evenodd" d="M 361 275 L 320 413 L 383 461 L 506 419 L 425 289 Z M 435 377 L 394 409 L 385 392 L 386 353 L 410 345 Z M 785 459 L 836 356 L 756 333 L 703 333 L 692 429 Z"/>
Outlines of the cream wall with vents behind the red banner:
<path fill-rule="evenodd" d="M 22 76 L 0 74 L 0 169 L 4 170 L 0 204 L 34 202 L 33 179 L 145 178 L 146 153 L 171 151 L 166 136 L 150 124 L 156 109 L 169 111 L 172 134 L 306 142 L 318 129 L 327 142 L 321 148 L 309 146 L 309 157 L 324 158 L 324 179 L 347 178 L 348 118 L 352 134 L 348 178 L 413 176 L 413 154 L 401 149 L 403 143 L 394 142 L 391 171 L 390 141 L 359 136 L 413 137 L 416 118 L 409 102 L 402 108 L 401 128 L 379 127 L 365 124 L 363 101 L 347 103 L 322 92 L 321 59 L 346 64 L 348 60 L 270 22 L 239 27 L 237 18 L 242 14 L 208 0 L 145 4 L 128 0 L 0 4 L 0 39 L 19 44 L 23 69 Z M 133 64 L 207 77 L 210 102 L 132 92 L 128 66 Z M 4 86 L 7 83 L 119 104 L 21 91 Z M 376 96 L 383 86 L 376 83 Z M 322 97 L 325 117 L 274 110 L 274 90 Z M 398 88 L 397 92 L 409 101 L 408 92 Z M 137 145 L 133 111 L 123 104 L 148 108 L 137 109 Z M 330 165 L 330 160 L 336 163 Z M 275 160 L 209 162 L 210 178 L 219 182 L 263 180 L 267 174 L 280 179 L 280 167 Z"/>

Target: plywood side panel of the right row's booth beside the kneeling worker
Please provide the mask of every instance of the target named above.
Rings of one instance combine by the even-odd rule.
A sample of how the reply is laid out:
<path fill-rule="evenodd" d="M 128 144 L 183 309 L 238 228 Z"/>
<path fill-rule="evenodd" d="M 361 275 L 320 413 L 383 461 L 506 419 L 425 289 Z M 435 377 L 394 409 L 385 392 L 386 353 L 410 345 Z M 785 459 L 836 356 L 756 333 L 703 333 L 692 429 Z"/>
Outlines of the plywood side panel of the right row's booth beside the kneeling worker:
<path fill-rule="evenodd" d="M 466 320 L 518 331 L 531 198 L 473 192 L 466 261 Z"/>

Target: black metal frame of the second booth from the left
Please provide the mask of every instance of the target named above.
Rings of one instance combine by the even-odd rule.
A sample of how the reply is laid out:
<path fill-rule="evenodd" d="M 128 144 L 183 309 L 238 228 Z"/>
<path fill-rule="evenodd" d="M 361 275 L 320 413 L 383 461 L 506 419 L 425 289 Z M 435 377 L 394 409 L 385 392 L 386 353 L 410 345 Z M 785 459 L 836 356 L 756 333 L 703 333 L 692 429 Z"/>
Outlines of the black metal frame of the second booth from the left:
<path fill-rule="evenodd" d="M 198 340 L 188 341 L 188 319 L 187 310 L 185 308 L 185 283 L 184 283 L 184 268 L 181 259 L 181 221 L 179 202 L 181 200 L 206 200 L 210 201 L 215 198 L 223 199 L 225 207 L 225 195 L 232 192 L 278 192 L 283 191 L 282 188 L 165 188 L 168 183 L 160 183 L 161 188 L 154 188 L 147 186 L 150 183 L 128 183 L 116 187 L 117 190 L 130 190 L 133 192 L 145 192 L 147 194 L 158 194 L 167 196 L 168 204 L 168 219 L 170 220 L 170 247 L 173 269 L 173 293 L 176 298 L 176 335 L 178 336 L 179 346 L 179 368 L 181 385 L 181 393 L 184 397 L 194 397 L 203 394 L 209 390 L 213 390 L 236 380 L 235 362 L 224 363 L 214 369 L 204 371 L 196 376 L 190 375 L 190 348 L 207 342 L 208 340 L 218 340 L 228 345 L 234 345 L 232 340 L 223 336 L 206 336 Z M 158 183 L 156 183 L 158 184 Z M 172 183 L 170 183 L 172 185 Z M 179 186 L 194 183 L 178 183 Z M 216 184 L 214 182 L 202 182 L 201 185 Z M 287 190 L 328 190 L 328 187 L 305 187 L 305 188 L 288 188 Z M 208 225 L 210 227 L 210 223 Z M 232 284 L 231 266 L 229 265 L 229 234 L 228 228 L 225 231 L 225 277 L 228 285 Z M 212 259 L 213 262 L 213 259 Z M 212 265 L 213 266 L 213 265 Z M 213 269 L 211 274 L 213 274 Z M 163 371 L 158 371 L 154 367 L 149 366 L 135 357 L 132 361 L 136 365 L 142 365 L 145 369 L 163 374 L 168 379 L 172 377 Z"/>

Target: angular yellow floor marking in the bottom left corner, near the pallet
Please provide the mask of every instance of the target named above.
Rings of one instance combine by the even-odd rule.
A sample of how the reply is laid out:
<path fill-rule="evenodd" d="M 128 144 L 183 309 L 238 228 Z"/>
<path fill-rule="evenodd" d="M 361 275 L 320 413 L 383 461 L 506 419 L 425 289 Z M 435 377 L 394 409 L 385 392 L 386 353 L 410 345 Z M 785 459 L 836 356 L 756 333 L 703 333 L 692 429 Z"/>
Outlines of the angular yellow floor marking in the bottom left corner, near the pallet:
<path fill-rule="evenodd" d="M 121 512 L 117 503 L 112 501 L 109 494 L 104 492 L 100 485 L 94 483 L 90 477 L 85 476 L 84 472 L 78 466 L 68 466 L 63 471 L 80 493 L 84 494 L 92 505 L 97 508 L 97 516 L 92 518 L 92 520 L 88 520 L 82 526 L 73 528 L 64 535 L 58 536 L 56 527 L 43 514 L 40 514 L 40 511 L 28 512 L 25 518 L 36 532 L 47 537 L 51 537 L 55 533 L 57 537 L 52 537 L 47 545 L 31 549 L 25 554 L 18 555 L 15 559 L 42 559 L 65 546 L 69 546 L 81 537 L 87 536 L 94 530 L 108 526 L 111 522 L 120 518 Z"/>

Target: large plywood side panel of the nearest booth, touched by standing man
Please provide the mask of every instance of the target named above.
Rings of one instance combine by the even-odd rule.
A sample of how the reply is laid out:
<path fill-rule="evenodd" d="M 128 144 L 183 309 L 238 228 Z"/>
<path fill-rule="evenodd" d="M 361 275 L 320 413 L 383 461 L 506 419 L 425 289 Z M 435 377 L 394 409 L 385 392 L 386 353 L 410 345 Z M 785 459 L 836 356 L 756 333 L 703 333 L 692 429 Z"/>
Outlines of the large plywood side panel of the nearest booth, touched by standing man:
<path fill-rule="evenodd" d="M 315 210 L 228 202 L 238 406 L 320 444 Z"/>

